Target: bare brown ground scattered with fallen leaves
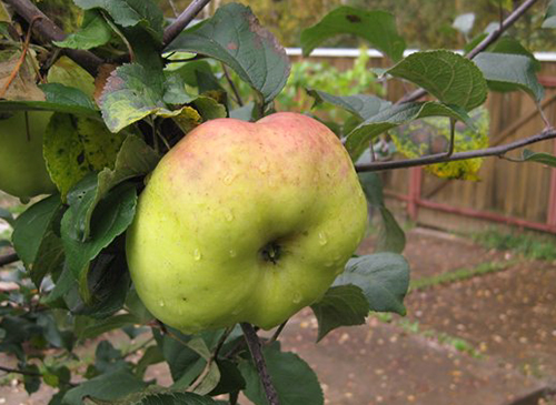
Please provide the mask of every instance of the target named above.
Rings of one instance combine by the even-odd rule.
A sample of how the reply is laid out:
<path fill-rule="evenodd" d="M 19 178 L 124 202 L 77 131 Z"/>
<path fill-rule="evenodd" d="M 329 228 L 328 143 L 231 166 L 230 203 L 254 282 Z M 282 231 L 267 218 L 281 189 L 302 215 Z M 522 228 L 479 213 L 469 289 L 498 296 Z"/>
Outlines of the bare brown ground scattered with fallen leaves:
<path fill-rule="evenodd" d="M 371 251 L 369 239 L 360 253 Z M 405 255 L 420 281 L 406 317 L 375 315 L 318 345 L 310 311 L 288 323 L 284 346 L 316 369 L 326 403 L 554 404 L 540 397 L 556 388 L 556 263 L 421 229 L 408 232 Z M 450 281 L 435 277 L 456 270 Z M 169 382 L 163 365 L 149 374 Z M 0 404 L 44 404 L 49 395 L 42 388 L 29 398 L 13 379 L 0 387 Z"/>

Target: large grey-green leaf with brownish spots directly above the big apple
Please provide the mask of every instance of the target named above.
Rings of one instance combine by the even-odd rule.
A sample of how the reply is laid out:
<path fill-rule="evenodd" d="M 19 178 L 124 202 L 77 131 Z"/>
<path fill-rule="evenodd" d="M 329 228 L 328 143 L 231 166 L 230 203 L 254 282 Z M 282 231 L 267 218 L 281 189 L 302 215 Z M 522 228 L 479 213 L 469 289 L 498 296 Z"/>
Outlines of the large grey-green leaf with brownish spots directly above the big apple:
<path fill-rule="evenodd" d="M 262 28 L 251 9 L 230 3 L 215 16 L 181 32 L 166 49 L 215 58 L 260 93 L 269 103 L 289 75 L 289 59 L 276 38 Z"/>

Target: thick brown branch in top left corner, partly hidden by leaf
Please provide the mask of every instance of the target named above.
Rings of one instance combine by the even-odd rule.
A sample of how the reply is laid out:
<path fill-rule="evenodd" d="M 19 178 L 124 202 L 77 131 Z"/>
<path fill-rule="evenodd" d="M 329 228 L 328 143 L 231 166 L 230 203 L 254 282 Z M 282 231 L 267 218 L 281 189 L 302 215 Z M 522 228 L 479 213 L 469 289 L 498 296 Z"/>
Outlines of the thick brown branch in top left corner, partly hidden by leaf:
<path fill-rule="evenodd" d="M 27 22 L 31 23 L 31 21 L 37 20 L 33 24 L 33 30 L 44 42 L 61 41 L 66 38 L 63 31 L 30 0 L 3 0 L 3 2 L 10 4 L 16 13 Z M 89 51 L 63 49 L 63 53 L 92 75 L 97 75 L 97 70 L 103 62 L 102 59 Z"/>

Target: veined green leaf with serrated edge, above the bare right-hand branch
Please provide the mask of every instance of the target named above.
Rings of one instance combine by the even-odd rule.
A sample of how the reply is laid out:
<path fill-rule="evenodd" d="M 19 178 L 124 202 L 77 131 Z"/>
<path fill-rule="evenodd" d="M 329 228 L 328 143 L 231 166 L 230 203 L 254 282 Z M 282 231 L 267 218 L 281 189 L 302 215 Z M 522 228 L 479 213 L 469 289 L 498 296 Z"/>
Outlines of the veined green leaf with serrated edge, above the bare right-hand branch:
<path fill-rule="evenodd" d="M 470 60 L 451 51 L 415 52 L 386 73 L 406 79 L 443 103 L 467 111 L 483 104 L 487 97 L 487 84 L 480 70 Z"/>

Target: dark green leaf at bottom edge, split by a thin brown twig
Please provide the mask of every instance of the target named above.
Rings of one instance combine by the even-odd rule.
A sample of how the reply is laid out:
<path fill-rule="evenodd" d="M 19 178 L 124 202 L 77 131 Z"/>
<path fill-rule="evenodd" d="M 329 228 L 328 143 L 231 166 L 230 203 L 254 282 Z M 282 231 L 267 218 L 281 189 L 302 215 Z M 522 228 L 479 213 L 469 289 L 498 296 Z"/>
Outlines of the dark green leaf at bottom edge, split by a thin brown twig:
<path fill-rule="evenodd" d="M 322 405 L 322 389 L 315 372 L 297 354 L 284 353 L 277 347 L 276 344 L 265 347 L 262 354 L 280 405 Z M 241 363 L 239 371 L 247 384 L 245 395 L 256 405 L 267 405 L 265 391 L 252 362 Z"/>

